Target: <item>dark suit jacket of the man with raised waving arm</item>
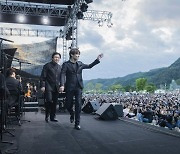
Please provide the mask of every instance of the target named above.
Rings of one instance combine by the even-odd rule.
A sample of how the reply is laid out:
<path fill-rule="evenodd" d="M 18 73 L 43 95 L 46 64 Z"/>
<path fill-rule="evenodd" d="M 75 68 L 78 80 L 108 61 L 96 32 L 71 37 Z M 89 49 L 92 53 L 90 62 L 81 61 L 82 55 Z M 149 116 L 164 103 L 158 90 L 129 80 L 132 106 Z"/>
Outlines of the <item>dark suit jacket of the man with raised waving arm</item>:
<path fill-rule="evenodd" d="M 79 88 L 83 89 L 82 70 L 90 69 L 98 63 L 100 63 L 98 59 L 91 64 L 84 64 L 78 61 L 77 70 L 75 70 L 70 60 L 64 62 L 61 70 L 61 86 L 65 86 L 66 91 L 74 89 L 77 85 Z"/>

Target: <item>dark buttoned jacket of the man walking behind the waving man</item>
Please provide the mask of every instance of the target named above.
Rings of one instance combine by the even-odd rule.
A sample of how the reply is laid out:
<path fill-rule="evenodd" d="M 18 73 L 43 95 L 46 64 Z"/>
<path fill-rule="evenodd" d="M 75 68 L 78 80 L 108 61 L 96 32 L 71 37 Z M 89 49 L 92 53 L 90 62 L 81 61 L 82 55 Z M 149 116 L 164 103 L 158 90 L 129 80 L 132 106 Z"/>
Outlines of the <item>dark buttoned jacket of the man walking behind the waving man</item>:
<path fill-rule="evenodd" d="M 60 86 L 61 66 L 53 61 L 44 65 L 41 72 L 41 87 L 46 91 L 58 91 Z"/>

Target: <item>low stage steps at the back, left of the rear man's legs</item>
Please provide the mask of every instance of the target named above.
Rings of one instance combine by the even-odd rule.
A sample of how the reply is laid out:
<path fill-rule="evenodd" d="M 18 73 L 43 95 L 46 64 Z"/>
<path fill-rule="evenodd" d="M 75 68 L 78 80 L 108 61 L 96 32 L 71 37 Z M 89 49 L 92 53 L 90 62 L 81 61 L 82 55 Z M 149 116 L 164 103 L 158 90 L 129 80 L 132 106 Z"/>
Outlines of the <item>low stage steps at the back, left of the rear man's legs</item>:
<path fill-rule="evenodd" d="M 24 102 L 23 112 L 38 112 L 39 103 L 38 102 Z"/>

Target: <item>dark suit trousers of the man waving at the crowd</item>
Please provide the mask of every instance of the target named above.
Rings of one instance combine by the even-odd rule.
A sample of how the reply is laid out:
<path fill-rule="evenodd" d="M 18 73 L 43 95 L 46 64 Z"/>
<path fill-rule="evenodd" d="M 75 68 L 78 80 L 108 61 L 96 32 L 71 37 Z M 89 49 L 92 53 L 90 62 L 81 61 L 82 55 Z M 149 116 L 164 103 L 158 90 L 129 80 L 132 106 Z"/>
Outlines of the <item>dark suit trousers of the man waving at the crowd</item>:
<path fill-rule="evenodd" d="M 73 99 L 75 101 L 73 101 Z M 69 111 L 70 115 L 74 114 L 73 104 L 75 103 L 75 125 L 78 125 L 80 123 L 80 114 L 81 114 L 81 106 L 82 106 L 81 100 L 82 100 L 81 88 L 66 90 L 66 108 Z"/>

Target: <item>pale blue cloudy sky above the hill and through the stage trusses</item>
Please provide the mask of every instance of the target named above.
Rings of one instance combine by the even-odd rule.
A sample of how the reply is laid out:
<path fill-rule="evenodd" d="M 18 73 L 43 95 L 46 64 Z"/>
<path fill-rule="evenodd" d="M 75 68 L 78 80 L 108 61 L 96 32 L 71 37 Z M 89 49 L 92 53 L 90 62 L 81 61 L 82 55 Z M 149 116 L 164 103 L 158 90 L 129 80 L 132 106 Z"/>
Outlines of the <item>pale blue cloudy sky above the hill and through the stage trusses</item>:
<path fill-rule="evenodd" d="M 100 64 L 84 70 L 85 80 L 167 67 L 180 57 L 180 0 L 94 0 L 88 9 L 111 12 L 113 26 L 79 20 L 80 60 L 89 64 L 104 54 Z M 22 43 L 22 38 L 6 38 Z M 23 38 L 23 42 L 40 40 L 45 38 Z M 61 45 L 58 51 L 62 51 Z"/>

